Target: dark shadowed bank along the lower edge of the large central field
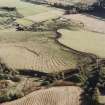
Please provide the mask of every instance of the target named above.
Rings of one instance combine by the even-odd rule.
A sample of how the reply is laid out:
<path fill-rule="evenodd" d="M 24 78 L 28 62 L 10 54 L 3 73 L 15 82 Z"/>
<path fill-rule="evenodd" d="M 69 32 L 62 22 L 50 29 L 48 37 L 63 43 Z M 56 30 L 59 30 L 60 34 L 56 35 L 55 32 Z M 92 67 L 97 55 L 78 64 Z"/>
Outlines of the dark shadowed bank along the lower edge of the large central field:
<path fill-rule="evenodd" d="M 19 69 L 19 74 L 24 75 L 24 76 L 31 76 L 31 77 L 38 77 L 42 79 L 47 79 L 53 81 L 55 78 L 60 80 L 60 79 L 70 79 L 74 75 L 79 73 L 79 69 L 68 69 L 64 70 L 62 72 L 57 72 L 57 73 L 44 73 L 40 71 L 35 71 L 35 70 L 29 70 L 29 69 Z M 64 78 L 62 78 L 64 76 Z"/>

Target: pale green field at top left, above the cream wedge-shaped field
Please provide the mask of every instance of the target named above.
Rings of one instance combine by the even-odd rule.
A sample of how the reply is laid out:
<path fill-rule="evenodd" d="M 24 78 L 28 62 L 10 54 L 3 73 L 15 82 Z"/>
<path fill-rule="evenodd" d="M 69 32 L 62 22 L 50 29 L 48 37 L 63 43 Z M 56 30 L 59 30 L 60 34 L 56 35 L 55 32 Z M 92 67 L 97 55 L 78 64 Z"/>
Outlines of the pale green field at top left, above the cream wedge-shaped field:
<path fill-rule="evenodd" d="M 23 16 L 35 15 L 52 10 L 50 7 L 31 4 L 20 0 L 0 0 L 0 6 L 16 7 L 18 12 Z"/>

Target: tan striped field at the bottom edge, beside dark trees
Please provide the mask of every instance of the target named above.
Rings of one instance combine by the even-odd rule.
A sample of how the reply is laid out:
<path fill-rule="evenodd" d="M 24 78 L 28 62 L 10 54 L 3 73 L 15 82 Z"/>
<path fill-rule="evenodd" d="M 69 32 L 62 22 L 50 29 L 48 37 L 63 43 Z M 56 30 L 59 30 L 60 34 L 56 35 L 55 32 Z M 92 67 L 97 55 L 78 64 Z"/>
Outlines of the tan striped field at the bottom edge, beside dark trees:
<path fill-rule="evenodd" d="M 1 105 L 80 105 L 81 93 L 82 90 L 75 86 L 53 87 Z"/>

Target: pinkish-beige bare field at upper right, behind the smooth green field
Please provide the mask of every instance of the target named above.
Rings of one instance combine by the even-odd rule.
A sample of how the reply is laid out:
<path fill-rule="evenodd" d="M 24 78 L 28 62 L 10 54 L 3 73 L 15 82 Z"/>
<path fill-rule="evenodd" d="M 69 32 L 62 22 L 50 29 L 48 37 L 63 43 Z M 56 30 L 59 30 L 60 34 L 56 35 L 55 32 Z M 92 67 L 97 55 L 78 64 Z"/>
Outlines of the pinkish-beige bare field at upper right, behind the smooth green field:
<path fill-rule="evenodd" d="M 105 33 L 105 21 L 98 17 L 85 14 L 65 15 L 64 18 L 84 24 L 84 28 L 90 31 Z"/>

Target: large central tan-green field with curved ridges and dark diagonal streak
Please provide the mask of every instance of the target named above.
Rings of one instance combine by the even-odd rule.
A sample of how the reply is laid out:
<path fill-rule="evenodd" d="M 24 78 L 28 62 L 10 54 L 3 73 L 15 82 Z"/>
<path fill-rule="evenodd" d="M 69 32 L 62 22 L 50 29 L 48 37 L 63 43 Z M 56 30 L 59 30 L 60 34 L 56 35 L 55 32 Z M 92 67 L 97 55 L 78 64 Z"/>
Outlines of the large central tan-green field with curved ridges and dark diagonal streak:
<path fill-rule="evenodd" d="M 61 49 L 52 32 L 0 33 L 0 58 L 13 69 L 59 72 L 76 68 L 78 57 Z"/>

